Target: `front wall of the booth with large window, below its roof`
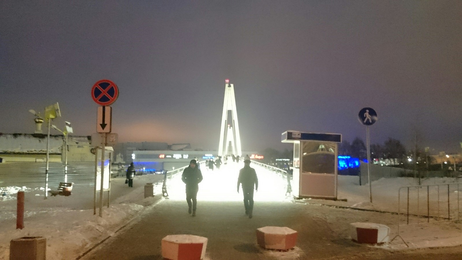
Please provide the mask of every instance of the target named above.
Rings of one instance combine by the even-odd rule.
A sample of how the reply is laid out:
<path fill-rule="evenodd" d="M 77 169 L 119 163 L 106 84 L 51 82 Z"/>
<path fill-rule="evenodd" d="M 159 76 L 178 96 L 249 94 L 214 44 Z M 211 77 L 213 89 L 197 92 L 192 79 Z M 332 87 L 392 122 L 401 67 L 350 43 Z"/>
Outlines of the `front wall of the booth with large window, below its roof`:
<path fill-rule="evenodd" d="M 300 156 L 300 197 L 337 198 L 337 144 L 303 142 Z"/>

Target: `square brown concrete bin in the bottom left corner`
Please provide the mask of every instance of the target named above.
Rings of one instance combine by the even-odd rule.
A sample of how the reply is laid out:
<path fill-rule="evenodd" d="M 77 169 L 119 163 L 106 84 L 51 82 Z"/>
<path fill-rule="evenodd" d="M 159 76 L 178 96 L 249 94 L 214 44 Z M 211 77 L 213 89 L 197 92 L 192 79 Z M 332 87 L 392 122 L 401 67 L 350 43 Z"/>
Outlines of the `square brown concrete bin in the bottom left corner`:
<path fill-rule="evenodd" d="M 10 260 L 46 260 L 47 239 L 24 236 L 10 241 Z"/>

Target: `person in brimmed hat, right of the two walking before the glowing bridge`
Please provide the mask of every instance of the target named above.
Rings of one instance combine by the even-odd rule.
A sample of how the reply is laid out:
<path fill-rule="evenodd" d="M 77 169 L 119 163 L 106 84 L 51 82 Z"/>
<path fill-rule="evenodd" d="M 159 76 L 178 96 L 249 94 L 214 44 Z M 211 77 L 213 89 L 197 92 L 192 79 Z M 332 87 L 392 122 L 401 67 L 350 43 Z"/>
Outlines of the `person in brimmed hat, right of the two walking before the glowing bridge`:
<path fill-rule="evenodd" d="M 245 214 L 249 215 L 249 218 L 252 218 L 254 210 L 254 186 L 255 192 L 258 191 L 258 178 L 255 169 L 250 167 L 250 160 L 244 160 L 244 167 L 239 171 L 237 193 L 239 193 L 239 185 L 241 183 L 244 194 Z"/>

